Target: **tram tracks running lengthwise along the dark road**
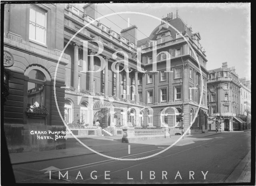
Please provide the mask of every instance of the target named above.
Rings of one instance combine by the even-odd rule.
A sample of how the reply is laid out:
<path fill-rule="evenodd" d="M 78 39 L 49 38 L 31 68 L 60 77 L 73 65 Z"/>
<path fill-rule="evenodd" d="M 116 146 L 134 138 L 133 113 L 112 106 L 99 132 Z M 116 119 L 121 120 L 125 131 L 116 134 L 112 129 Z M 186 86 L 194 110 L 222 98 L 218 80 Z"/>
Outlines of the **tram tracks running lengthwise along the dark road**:
<path fill-rule="evenodd" d="M 121 170 L 124 170 L 124 169 L 127 169 L 127 168 L 132 168 L 134 166 L 139 166 L 141 164 L 145 164 L 145 163 L 148 163 L 148 162 L 152 162 L 152 161 L 155 161 L 155 160 L 159 160 L 159 159 L 162 159 L 162 158 L 166 158 L 168 156 L 173 156 L 175 154 L 178 154 L 178 153 L 182 153 L 182 152 L 186 152 L 188 150 L 191 150 L 191 149 L 194 149 L 194 148 L 198 148 L 200 146 L 204 146 L 206 144 L 210 144 L 212 142 L 216 142 L 218 140 L 223 140 L 223 139 L 226 139 L 226 138 L 229 138 L 229 137 L 232 137 L 233 135 L 228 135 L 226 137 L 223 137 L 221 139 L 215 139 L 215 138 L 212 138 L 212 140 L 210 142 L 206 142 L 204 144 L 200 144 L 200 145 L 197 145 L 197 146 L 194 146 L 194 147 L 191 147 L 191 148 L 188 148 L 188 149 L 185 149 L 185 150 L 182 150 L 182 151 L 179 151 L 179 152 L 175 152 L 173 154 L 168 154 L 166 156 L 161 156 L 161 157 L 158 157 L 158 158 L 153 158 L 153 159 L 150 159 L 148 161 L 145 161 L 145 162 L 140 162 L 139 164 L 136 164 L 136 165 L 131 165 L 131 166 L 126 166 L 124 168 L 120 168 L 118 170 L 114 170 L 112 172 L 118 172 L 118 171 L 121 171 Z M 176 148 L 178 146 L 173 146 L 172 148 L 170 149 L 173 149 L 173 148 Z M 123 157 L 120 157 L 120 158 L 134 158 L 134 157 L 138 157 L 138 156 L 145 156 L 145 154 L 152 154 L 153 152 L 156 152 L 156 151 L 160 151 L 162 150 L 162 148 L 158 148 L 158 149 L 155 149 L 155 150 L 150 150 L 150 151 L 147 151 L 147 152 L 141 152 L 141 153 L 138 153 L 138 154 L 131 154 L 131 155 L 128 155 L 128 156 L 123 156 Z M 52 177 L 54 178 L 54 176 L 56 177 L 56 175 L 58 176 L 58 171 L 63 171 L 63 170 L 68 170 L 69 172 L 72 172 L 72 171 L 76 171 L 76 170 L 80 170 L 80 169 L 84 169 L 84 168 L 90 168 L 90 167 L 93 167 L 93 166 L 101 166 L 101 165 L 106 165 L 106 164 L 109 164 L 109 163 L 112 163 L 112 162 L 116 162 L 116 161 L 119 161 L 119 160 L 112 160 L 112 159 L 108 159 L 108 160 L 102 160 L 102 161 L 99 161 L 99 162 L 92 162 L 92 163 L 89 163 L 89 164 L 84 164 L 84 165 L 79 165 L 79 166 L 74 166 L 74 167 L 68 167 L 68 168 L 63 168 L 63 169 L 60 169 L 60 170 L 56 170 L 56 171 L 52 171 Z M 110 172 L 111 173 L 111 172 Z M 44 177 L 48 177 L 49 175 L 46 174 L 46 175 L 42 175 L 42 176 L 36 176 L 34 178 L 29 178 L 29 179 L 26 179 L 26 180 L 21 180 L 21 181 L 18 181 L 17 183 L 22 183 L 22 182 L 26 182 L 26 181 L 31 181 L 31 180 L 36 180 L 36 179 L 39 179 L 39 178 L 44 178 Z M 104 176 L 104 174 L 100 174 L 98 175 L 98 177 L 100 176 Z M 92 178 L 88 178 L 86 180 L 90 180 Z M 72 181 L 68 181 L 69 183 L 79 183 L 79 182 L 83 182 L 83 181 L 86 181 L 86 180 L 72 180 Z"/>

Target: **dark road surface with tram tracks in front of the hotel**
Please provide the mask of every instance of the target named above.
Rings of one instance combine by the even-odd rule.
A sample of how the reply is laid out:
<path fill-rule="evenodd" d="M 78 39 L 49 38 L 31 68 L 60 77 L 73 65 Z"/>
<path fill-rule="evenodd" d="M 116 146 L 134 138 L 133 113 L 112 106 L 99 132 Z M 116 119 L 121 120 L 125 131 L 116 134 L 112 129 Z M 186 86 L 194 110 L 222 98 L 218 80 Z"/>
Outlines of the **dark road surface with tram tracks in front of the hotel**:
<path fill-rule="evenodd" d="M 130 144 L 130 154 L 128 148 L 112 151 L 111 147 L 104 154 L 140 158 L 166 147 L 166 144 Z M 222 183 L 249 151 L 250 133 L 221 133 L 174 146 L 162 154 L 143 160 L 120 161 L 87 154 L 18 164 L 13 169 L 16 182 L 19 183 Z M 58 171 L 52 170 L 49 179 L 49 173 L 40 171 L 49 166 L 59 168 L 62 175 L 68 171 L 68 177 L 62 178 L 60 175 L 59 179 Z"/>

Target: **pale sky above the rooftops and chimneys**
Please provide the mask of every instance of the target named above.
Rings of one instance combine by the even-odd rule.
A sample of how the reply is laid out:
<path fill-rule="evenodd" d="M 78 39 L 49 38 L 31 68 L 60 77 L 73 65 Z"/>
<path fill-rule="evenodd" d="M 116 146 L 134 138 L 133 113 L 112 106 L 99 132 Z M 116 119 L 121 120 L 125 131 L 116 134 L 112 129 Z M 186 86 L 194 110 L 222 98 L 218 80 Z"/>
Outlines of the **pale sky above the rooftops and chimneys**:
<path fill-rule="evenodd" d="M 229 67 L 235 66 L 239 77 L 250 79 L 249 3 L 108 3 L 98 4 L 97 8 L 102 15 L 111 14 L 114 10 L 114 12 L 142 12 L 158 18 L 165 17 L 170 12 L 176 15 L 178 10 L 178 15 L 188 26 L 192 26 L 193 32 L 200 33 L 200 43 L 206 50 L 208 59 L 208 70 L 221 67 L 222 62 L 227 61 Z M 100 14 L 99 16 L 102 16 Z M 119 33 L 121 28 L 127 28 L 129 18 L 130 24 L 138 26 L 138 40 L 149 36 L 160 24 L 159 20 L 138 14 L 120 14 L 120 16 L 108 17 L 117 26 L 106 18 L 100 22 Z"/>

